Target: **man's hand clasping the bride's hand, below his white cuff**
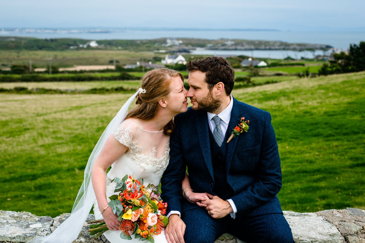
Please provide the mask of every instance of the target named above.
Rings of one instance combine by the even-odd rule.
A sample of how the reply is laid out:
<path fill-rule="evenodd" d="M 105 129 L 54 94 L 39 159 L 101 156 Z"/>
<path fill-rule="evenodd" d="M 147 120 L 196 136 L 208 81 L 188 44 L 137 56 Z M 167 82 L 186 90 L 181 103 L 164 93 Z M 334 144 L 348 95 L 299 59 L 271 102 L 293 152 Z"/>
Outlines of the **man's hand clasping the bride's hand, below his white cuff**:
<path fill-rule="evenodd" d="M 207 209 L 212 218 L 220 219 L 233 212 L 231 204 L 228 201 L 221 199 L 219 196 L 214 196 L 207 192 L 205 193 L 208 195 L 209 199 L 201 201 L 201 203 L 208 205 L 205 209 Z"/>

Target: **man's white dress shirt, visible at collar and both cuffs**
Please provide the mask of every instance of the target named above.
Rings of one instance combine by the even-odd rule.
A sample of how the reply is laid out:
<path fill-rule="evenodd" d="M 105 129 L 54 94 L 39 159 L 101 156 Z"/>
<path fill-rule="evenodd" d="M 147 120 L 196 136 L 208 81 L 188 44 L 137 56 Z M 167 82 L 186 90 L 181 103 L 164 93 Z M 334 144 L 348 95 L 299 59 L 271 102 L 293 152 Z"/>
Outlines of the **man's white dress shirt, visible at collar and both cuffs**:
<path fill-rule="evenodd" d="M 222 129 L 223 142 L 224 142 L 224 137 L 226 136 L 229 121 L 231 119 L 231 112 L 232 112 L 232 107 L 233 107 L 233 96 L 232 95 L 230 95 L 230 99 L 231 99 L 231 101 L 230 101 L 229 105 L 221 113 L 213 114 L 213 113 L 207 112 L 207 114 L 208 114 L 208 124 L 209 124 L 209 128 L 210 128 L 212 134 L 213 134 L 213 131 L 214 131 L 214 128 L 215 128 L 215 122 L 212 118 L 215 115 L 218 115 L 218 117 L 220 118 L 220 128 Z M 231 204 L 231 207 L 233 209 L 233 212 L 230 213 L 230 215 L 231 215 L 231 217 L 233 217 L 235 219 L 236 214 L 237 214 L 236 205 L 234 204 L 232 199 L 227 199 L 227 201 L 228 201 L 228 203 Z M 180 212 L 170 211 L 169 214 L 167 215 L 167 217 L 169 217 L 173 213 L 176 213 L 180 216 Z"/>

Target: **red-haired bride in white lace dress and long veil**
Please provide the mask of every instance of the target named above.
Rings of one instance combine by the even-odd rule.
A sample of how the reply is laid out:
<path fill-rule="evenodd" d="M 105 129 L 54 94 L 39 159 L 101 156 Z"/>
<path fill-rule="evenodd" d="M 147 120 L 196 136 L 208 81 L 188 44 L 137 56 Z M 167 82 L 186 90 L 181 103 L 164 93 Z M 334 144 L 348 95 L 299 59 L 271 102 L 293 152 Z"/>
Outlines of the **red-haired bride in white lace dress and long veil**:
<path fill-rule="evenodd" d="M 108 197 L 116 194 L 115 183 L 111 180 L 133 174 L 134 178 L 142 178 L 145 185 L 160 184 L 169 162 L 173 117 L 188 109 L 183 81 L 180 72 L 167 68 L 154 69 L 143 76 L 142 88 L 128 99 L 97 142 L 70 217 L 51 235 L 33 238 L 30 243 L 73 242 L 92 205 L 95 218 L 105 220 L 109 230 L 104 236 L 111 243 L 138 241 L 120 238 L 118 216 L 108 206 Z M 126 115 L 134 98 L 137 98 L 137 107 Z M 156 243 L 167 242 L 165 232 L 155 236 L 154 240 Z"/>

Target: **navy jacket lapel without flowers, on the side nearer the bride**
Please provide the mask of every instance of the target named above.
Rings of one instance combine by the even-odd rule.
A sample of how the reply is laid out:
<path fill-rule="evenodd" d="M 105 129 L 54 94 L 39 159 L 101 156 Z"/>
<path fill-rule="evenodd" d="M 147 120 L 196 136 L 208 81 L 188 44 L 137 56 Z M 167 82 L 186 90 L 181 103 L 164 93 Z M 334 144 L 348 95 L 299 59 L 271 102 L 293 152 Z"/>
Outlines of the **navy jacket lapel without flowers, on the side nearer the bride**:
<path fill-rule="evenodd" d="M 209 141 L 209 124 L 208 124 L 208 116 L 206 112 L 202 112 L 202 114 L 195 119 L 196 131 L 198 134 L 199 144 L 201 152 L 203 153 L 203 157 L 205 160 L 205 164 L 207 164 L 207 168 L 209 170 L 210 175 L 214 178 L 213 173 L 213 165 L 212 165 L 212 155 L 210 150 L 210 141 Z"/>

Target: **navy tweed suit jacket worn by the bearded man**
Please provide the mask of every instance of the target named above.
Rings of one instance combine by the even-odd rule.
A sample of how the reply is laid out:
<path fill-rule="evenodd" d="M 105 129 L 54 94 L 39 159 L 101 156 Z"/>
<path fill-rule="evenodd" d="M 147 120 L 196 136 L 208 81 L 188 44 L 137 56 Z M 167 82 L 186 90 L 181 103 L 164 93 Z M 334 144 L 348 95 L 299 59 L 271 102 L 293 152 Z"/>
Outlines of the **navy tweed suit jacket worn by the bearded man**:
<path fill-rule="evenodd" d="M 277 193 L 281 188 L 281 168 L 275 133 L 268 112 L 233 98 L 228 130 L 237 126 L 241 117 L 250 121 L 248 132 L 227 144 L 226 179 L 233 189 L 230 198 L 242 216 L 282 213 Z M 161 197 L 170 211 L 198 207 L 181 195 L 181 182 L 186 166 L 194 192 L 212 193 L 214 181 L 207 113 L 193 111 L 178 114 L 170 137 L 170 162 L 161 178 Z M 228 134 L 230 134 L 230 132 Z M 226 135 L 223 142 L 229 136 Z"/>

